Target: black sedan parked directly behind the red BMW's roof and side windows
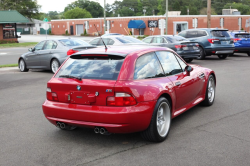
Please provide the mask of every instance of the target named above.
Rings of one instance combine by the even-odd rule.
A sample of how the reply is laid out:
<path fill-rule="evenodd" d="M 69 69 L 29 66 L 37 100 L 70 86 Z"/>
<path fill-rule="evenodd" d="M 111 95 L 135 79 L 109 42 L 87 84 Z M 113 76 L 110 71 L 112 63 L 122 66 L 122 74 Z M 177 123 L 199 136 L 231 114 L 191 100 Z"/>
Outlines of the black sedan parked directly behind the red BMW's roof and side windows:
<path fill-rule="evenodd" d="M 199 45 L 196 42 L 190 42 L 181 36 L 174 35 L 157 35 L 149 36 L 143 39 L 143 42 L 168 47 L 179 54 L 186 62 L 191 62 L 200 56 Z"/>

